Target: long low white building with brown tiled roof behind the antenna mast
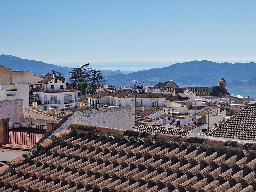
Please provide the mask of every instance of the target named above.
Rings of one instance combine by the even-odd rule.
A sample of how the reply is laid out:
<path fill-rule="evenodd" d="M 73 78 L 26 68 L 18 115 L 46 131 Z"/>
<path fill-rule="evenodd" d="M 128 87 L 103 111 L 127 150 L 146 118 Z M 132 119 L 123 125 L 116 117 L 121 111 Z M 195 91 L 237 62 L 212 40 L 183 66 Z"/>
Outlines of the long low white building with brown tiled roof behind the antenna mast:
<path fill-rule="evenodd" d="M 128 91 L 126 91 L 128 90 Z M 135 95 L 136 94 L 136 95 Z M 136 103 L 135 103 L 136 96 Z M 120 89 L 108 95 L 111 106 L 136 104 L 136 107 L 164 107 L 165 96 L 161 93 L 135 93 L 129 89 Z"/>

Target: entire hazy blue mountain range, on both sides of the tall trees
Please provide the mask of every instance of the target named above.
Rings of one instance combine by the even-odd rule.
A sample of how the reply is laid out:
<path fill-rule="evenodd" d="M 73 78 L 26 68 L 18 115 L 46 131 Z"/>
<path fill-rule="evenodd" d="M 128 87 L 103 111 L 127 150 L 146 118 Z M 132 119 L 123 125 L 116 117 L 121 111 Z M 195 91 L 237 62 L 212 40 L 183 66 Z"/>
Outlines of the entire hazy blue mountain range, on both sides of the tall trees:
<path fill-rule="evenodd" d="M 68 67 L 21 59 L 12 55 L 0 55 L 0 65 L 12 70 L 30 70 L 36 75 L 56 70 L 68 76 L 71 71 Z M 256 96 L 256 63 L 254 62 L 232 64 L 202 60 L 136 72 L 120 70 L 101 70 L 101 72 L 106 77 L 105 83 L 114 84 L 116 87 L 133 86 L 137 80 L 145 81 L 144 87 L 168 80 L 173 80 L 179 87 L 217 86 L 218 80 L 223 76 L 227 82 L 228 92 L 231 94 Z"/>

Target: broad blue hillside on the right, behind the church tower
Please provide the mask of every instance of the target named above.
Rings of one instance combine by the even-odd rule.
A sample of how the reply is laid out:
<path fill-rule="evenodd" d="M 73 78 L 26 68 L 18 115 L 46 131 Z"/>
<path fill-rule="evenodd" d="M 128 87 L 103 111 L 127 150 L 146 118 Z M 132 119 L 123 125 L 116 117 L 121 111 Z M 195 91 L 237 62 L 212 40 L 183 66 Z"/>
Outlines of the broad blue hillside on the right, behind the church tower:
<path fill-rule="evenodd" d="M 173 80 L 179 87 L 217 86 L 220 76 L 227 81 L 231 94 L 256 96 L 256 63 L 216 63 L 212 61 L 190 61 L 169 67 L 155 68 L 129 74 L 106 76 L 108 84 L 116 87 L 133 86 L 135 81 L 146 85 Z"/>

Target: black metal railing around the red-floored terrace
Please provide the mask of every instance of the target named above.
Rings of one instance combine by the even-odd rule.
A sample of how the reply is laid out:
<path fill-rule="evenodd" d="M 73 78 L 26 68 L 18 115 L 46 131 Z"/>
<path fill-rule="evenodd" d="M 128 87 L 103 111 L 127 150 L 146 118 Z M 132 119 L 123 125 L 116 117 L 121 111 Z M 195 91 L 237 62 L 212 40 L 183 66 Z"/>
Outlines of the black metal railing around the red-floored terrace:
<path fill-rule="evenodd" d="M 46 134 L 46 125 L 7 123 L 6 137 L 11 144 L 33 146 Z"/>

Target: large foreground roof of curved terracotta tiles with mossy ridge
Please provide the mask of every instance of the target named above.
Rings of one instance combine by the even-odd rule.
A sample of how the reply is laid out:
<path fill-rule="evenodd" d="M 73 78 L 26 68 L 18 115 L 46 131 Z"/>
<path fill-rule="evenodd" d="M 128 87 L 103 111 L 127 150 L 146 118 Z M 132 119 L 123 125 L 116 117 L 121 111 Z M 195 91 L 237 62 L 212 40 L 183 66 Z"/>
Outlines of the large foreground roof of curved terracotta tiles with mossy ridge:
<path fill-rule="evenodd" d="M 69 127 L 1 167 L 1 191 L 255 190 L 255 144 Z"/>

